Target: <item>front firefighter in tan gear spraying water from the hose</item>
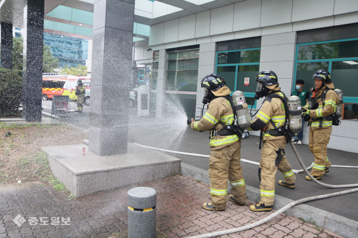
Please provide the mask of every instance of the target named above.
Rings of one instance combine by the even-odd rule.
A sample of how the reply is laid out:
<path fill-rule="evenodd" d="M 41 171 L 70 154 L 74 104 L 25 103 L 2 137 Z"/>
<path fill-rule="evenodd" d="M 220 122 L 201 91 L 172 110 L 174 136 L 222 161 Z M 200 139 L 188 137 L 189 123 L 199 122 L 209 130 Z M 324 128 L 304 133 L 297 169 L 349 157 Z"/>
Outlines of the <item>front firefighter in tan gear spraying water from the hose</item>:
<path fill-rule="evenodd" d="M 211 130 L 209 179 L 211 202 L 205 202 L 203 208 L 224 211 L 227 201 L 228 179 L 232 187 L 229 200 L 238 205 L 245 205 L 246 187 L 240 166 L 241 141 L 232 130 L 227 130 L 234 121 L 230 101 L 224 97 L 230 95 L 230 89 L 220 76 L 206 75 L 202 80 L 205 88 L 203 103 L 210 105 L 200 121 L 191 119 L 191 128 L 197 131 Z M 230 96 L 229 96 L 230 97 Z"/>

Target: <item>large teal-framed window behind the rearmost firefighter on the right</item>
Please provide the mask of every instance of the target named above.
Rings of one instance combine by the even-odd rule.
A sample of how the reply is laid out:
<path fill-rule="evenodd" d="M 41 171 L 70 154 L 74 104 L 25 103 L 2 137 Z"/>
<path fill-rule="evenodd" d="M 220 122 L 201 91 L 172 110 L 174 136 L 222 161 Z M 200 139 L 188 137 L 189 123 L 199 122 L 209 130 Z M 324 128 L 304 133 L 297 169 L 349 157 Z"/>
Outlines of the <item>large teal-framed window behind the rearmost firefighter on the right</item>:
<path fill-rule="evenodd" d="M 334 87 L 343 91 L 343 102 L 358 103 L 358 38 L 299 43 L 296 47 L 295 82 L 305 80 L 305 89 L 309 90 L 314 86 L 313 73 L 328 69 Z"/>

